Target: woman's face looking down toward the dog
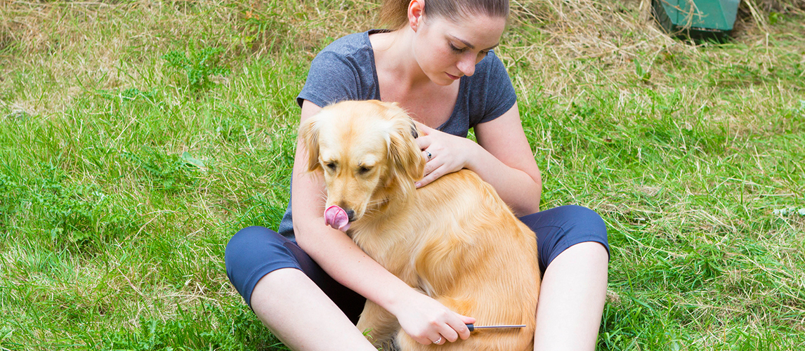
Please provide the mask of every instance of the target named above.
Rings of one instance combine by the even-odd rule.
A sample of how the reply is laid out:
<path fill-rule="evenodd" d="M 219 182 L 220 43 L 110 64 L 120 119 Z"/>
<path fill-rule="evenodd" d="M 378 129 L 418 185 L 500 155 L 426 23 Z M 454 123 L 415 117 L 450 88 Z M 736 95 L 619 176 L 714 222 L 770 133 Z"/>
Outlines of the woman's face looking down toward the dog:
<path fill-rule="evenodd" d="M 425 75 L 437 85 L 451 85 L 472 76 L 475 64 L 497 46 L 506 19 L 468 14 L 460 23 L 420 17 L 415 33 L 414 57 Z"/>

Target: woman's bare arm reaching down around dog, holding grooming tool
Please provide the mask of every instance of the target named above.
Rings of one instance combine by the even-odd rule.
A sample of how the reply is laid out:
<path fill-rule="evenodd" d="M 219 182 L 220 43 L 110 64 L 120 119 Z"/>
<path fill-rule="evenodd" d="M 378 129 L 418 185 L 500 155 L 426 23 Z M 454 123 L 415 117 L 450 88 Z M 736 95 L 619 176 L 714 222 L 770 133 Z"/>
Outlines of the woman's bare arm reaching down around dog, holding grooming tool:
<path fill-rule="evenodd" d="M 304 101 L 300 120 L 319 110 L 319 106 Z M 448 341 L 469 337 L 464 324 L 473 323 L 472 318 L 451 312 L 408 287 L 366 255 L 345 233 L 324 224 L 324 175 L 308 172 L 307 152 L 303 143 L 297 141 L 291 206 L 299 246 L 337 282 L 394 314 L 415 341 L 427 345 L 440 336 Z"/>

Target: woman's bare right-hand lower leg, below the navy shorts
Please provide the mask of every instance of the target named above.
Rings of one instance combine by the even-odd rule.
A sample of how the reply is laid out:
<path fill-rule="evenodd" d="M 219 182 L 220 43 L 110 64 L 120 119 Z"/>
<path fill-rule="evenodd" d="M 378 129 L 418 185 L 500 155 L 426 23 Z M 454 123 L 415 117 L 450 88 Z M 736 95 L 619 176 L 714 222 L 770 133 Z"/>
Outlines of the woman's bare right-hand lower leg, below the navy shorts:
<path fill-rule="evenodd" d="M 609 255 L 581 242 L 554 258 L 543 276 L 534 349 L 594 350 L 607 287 Z"/>

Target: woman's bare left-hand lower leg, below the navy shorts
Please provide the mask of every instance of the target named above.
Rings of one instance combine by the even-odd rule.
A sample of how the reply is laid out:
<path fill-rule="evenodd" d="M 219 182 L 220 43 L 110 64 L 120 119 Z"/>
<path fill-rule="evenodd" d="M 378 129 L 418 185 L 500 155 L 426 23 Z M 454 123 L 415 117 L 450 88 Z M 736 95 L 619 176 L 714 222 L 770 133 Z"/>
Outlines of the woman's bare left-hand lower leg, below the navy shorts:
<path fill-rule="evenodd" d="M 283 268 L 260 279 L 254 314 L 294 350 L 377 351 L 331 299 L 301 270 Z"/>

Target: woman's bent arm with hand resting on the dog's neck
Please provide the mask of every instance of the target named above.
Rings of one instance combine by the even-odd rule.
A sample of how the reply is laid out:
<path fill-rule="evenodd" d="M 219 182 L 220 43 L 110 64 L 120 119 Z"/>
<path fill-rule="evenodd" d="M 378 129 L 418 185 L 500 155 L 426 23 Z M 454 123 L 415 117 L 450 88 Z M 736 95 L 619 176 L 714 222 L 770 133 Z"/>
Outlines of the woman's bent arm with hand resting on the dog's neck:
<path fill-rule="evenodd" d="M 431 160 L 418 186 L 467 168 L 492 184 L 517 216 L 539 211 L 542 175 L 522 130 L 516 103 L 506 114 L 475 126 L 478 143 L 427 127 L 425 134 L 417 142 L 423 151 L 431 153 Z"/>

